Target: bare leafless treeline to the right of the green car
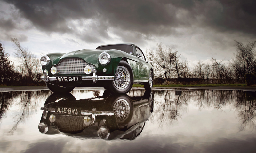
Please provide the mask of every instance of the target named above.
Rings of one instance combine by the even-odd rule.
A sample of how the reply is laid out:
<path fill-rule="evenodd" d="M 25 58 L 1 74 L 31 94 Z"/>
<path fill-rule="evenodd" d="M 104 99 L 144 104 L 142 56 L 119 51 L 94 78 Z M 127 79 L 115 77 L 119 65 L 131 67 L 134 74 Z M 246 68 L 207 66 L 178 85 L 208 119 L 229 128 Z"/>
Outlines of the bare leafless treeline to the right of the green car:
<path fill-rule="evenodd" d="M 149 50 L 146 57 L 154 67 L 154 84 L 256 84 L 255 42 L 247 44 L 235 41 L 234 58 L 228 65 L 223 60 L 212 57 L 212 64 L 198 61 L 192 68 L 188 60 L 180 60 L 181 55 L 171 46 L 156 43 L 155 50 Z M 247 74 L 247 75 L 246 75 Z M 247 77 L 247 78 L 245 78 Z"/>

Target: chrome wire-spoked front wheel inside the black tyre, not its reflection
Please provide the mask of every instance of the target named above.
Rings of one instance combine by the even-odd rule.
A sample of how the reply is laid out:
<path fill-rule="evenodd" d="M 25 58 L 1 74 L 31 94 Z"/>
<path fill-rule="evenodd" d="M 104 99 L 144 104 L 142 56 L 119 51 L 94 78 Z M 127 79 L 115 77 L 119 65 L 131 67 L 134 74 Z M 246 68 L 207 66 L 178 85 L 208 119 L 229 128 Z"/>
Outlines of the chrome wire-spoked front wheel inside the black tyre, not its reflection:
<path fill-rule="evenodd" d="M 118 66 L 113 82 L 118 89 L 126 88 L 130 82 L 130 73 L 128 69 L 124 66 Z"/>

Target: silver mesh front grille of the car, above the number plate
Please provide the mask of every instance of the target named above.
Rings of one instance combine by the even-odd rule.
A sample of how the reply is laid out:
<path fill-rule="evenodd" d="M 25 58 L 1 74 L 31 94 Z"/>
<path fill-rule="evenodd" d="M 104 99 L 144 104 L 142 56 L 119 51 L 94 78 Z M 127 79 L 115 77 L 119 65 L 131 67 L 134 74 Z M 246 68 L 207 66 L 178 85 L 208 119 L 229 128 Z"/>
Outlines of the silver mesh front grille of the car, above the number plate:
<path fill-rule="evenodd" d="M 92 73 L 93 73 L 95 66 L 84 62 L 84 60 L 80 58 L 64 59 L 60 62 L 59 65 L 56 66 L 56 68 L 58 73 L 74 74 L 74 73 L 84 73 L 85 66 L 90 66 L 92 68 Z"/>

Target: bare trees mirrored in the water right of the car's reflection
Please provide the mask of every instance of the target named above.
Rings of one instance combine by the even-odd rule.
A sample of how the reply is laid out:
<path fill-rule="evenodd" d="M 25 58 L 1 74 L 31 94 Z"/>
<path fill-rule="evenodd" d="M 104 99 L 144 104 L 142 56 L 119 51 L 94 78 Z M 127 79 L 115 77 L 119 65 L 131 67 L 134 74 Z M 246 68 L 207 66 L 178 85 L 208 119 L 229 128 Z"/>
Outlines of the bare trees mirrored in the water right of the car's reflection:
<path fill-rule="evenodd" d="M 246 126 L 256 129 L 256 96 L 255 92 L 237 90 L 187 90 L 187 91 L 155 91 L 155 108 L 152 119 L 157 117 L 159 128 L 164 124 L 171 125 L 178 122 L 182 113 L 188 113 L 188 104 L 194 104 L 199 111 L 214 108 L 223 111 L 223 108 L 234 109 L 241 121 L 240 130 Z"/>

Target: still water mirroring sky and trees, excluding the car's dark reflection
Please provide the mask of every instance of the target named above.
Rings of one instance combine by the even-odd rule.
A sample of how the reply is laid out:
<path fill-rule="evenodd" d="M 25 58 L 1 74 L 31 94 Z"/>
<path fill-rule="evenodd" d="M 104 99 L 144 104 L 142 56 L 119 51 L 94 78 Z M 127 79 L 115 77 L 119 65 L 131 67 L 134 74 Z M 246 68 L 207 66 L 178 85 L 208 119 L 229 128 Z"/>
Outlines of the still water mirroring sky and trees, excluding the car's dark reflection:
<path fill-rule="evenodd" d="M 0 152 L 256 152 L 254 92 L 131 90 L 120 96 L 42 90 L 0 95 Z M 66 113 L 58 114 L 58 108 Z"/>

